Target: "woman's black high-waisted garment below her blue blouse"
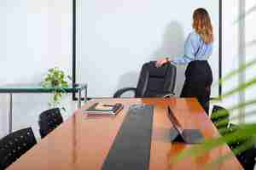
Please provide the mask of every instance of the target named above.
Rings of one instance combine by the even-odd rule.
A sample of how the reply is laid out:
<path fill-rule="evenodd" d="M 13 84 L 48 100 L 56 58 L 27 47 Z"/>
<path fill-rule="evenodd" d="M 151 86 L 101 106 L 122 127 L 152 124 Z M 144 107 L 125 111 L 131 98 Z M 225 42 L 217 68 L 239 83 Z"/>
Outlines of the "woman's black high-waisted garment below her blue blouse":
<path fill-rule="evenodd" d="M 209 100 L 212 86 L 212 69 L 207 60 L 195 60 L 189 63 L 185 72 L 181 97 L 196 98 L 204 110 L 209 113 Z"/>

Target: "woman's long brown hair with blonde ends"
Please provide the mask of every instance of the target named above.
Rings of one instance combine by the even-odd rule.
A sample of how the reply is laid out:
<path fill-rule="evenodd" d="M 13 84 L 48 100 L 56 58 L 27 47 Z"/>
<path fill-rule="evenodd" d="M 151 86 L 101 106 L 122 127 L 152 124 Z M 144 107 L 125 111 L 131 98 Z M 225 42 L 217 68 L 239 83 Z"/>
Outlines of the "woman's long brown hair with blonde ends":
<path fill-rule="evenodd" d="M 213 31 L 210 15 L 205 8 L 197 8 L 193 14 L 193 28 L 201 39 L 208 43 L 213 42 Z"/>

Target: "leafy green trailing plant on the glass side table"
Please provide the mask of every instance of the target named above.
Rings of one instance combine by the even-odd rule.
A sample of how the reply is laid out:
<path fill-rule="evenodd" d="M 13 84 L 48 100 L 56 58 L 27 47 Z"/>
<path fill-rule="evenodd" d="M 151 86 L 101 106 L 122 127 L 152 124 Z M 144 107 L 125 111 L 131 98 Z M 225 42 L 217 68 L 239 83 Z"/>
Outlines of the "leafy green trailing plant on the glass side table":
<path fill-rule="evenodd" d="M 67 94 L 65 88 L 68 87 L 68 81 L 71 81 L 72 77 L 66 76 L 64 71 L 61 71 L 58 67 L 49 69 L 48 73 L 42 82 L 44 88 L 54 88 L 53 98 L 49 101 L 49 107 L 60 107 L 60 100 L 64 94 Z M 61 107 L 64 111 L 65 108 Z"/>

